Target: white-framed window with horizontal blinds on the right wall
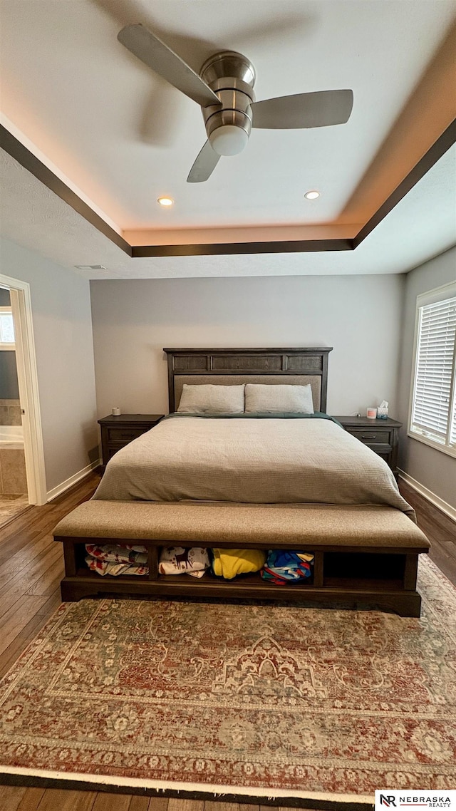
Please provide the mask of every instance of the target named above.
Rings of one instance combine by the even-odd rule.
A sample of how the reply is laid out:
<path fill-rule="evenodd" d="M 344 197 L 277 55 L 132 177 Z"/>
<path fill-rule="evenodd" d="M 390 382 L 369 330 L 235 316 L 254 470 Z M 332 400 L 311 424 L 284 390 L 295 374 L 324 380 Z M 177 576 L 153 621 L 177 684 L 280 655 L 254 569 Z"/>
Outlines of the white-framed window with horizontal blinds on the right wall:
<path fill-rule="evenodd" d="M 416 299 L 409 436 L 456 457 L 456 284 Z"/>

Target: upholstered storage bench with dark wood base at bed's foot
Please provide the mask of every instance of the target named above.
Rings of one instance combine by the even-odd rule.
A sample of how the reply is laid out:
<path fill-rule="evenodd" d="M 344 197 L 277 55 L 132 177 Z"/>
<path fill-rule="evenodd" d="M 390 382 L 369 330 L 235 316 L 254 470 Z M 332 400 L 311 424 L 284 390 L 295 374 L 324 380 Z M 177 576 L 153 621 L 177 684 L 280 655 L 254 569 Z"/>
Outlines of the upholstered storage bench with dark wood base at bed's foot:
<path fill-rule="evenodd" d="M 62 600 L 96 594 L 266 598 L 375 604 L 419 616 L 418 556 L 428 539 L 399 510 L 383 506 L 230 504 L 92 500 L 58 523 L 65 577 Z M 85 543 L 142 543 L 148 575 L 101 577 L 84 562 Z M 224 581 L 205 573 L 161 575 L 161 547 L 299 549 L 315 555 L 312 577 L 274 586 L 260 574 Z"/>

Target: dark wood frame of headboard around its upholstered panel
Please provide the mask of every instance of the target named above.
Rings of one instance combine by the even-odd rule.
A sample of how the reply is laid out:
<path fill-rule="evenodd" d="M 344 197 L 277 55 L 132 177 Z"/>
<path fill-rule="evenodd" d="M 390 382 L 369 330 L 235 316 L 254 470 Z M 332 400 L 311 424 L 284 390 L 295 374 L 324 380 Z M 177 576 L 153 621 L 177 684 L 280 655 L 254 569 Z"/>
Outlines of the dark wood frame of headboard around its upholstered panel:
<path fill-rule="evenodd" d="M 191 375 L 311 375 L 320 378 L 320 411 L 326 410 L 328 355 L 332 346 L 272 349 L 164 349 L 168 355 L 170 412 L 175 410 L 175 378 Z M 217 380 L 220 382 L 220 380 Z M 286 380 L 283 380 L 285 383 Z M 294 381 L 296 382 L 296 381 Z"/>

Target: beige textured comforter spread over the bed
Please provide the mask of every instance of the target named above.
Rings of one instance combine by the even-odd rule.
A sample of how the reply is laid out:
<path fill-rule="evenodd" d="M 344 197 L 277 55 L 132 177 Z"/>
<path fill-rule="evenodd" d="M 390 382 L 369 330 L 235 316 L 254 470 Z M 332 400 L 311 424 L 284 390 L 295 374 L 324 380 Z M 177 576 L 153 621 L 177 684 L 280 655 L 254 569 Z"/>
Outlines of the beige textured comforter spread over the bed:
<path fill-rule="evenodd" d="M 327 419 L 173 418 L 115 454 L 93 496 L 254 504 L 388 504 L 386 462 Z"/>

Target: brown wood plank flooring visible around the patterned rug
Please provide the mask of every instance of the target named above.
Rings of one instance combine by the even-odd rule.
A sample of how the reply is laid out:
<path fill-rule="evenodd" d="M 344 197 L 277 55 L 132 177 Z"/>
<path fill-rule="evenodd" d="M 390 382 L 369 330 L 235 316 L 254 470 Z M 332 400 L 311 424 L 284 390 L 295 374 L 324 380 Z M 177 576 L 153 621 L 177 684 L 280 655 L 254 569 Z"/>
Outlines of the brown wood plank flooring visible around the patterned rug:
<path fill-rule="evenodd" d="M 9 670 L 60 604 L 62 547 L 54 543 L 51 533 L 60 518 L 92 496 L 99 481 L 99 474 L 92 473 L 51 504 L 29 508 L 0 527 L 0 676 Z M 432 560 L 456 586 L 456 524 L 406 483 L 400 481 L 399 486 L 402 496 L 415 508 L 419 526 L 432 542 Z M 270 806 L 0 785 L 0 809 L 267 811 Z M 283 807 L 279 811 L 291 809 Z"/>

